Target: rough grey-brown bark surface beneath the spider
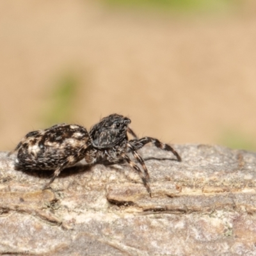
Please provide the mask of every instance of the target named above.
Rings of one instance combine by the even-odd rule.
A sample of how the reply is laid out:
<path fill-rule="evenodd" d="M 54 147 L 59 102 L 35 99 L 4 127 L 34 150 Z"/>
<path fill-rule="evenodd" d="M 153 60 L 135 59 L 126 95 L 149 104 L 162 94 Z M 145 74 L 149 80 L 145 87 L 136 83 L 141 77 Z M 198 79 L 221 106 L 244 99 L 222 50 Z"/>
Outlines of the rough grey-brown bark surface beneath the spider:
<path fill-rule="evenodd" d="M 0 254 L 256 255 L 256 154 L 175 145 L 141 154 L 152 198 L 127 164 L 14 170 L 0 153 Z"/>

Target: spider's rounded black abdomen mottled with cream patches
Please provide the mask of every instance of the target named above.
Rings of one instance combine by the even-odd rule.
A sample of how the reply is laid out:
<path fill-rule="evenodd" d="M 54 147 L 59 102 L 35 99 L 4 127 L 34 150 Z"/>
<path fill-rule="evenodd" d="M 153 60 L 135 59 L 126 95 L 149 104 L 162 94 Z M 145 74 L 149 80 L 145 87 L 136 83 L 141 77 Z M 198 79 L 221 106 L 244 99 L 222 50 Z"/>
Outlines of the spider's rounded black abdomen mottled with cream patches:
<path fill-rule="evenodd" d="M 83 159 L 90 144 L 87 130 L 81 125 L 59 124 L 49 129 L 29 132 L 18 145 L 17 168 L 51 170 Z"/>

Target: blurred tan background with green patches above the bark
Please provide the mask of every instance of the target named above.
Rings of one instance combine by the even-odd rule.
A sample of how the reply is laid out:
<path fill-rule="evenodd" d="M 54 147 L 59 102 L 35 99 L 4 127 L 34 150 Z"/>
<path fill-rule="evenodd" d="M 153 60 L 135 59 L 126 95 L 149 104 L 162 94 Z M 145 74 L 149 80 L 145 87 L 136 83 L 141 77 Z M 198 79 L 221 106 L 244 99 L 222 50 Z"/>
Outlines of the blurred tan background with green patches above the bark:
<path fill-rule="evenodd" d="M 255 0 L 0 0 L 0 149 L 111 113 L 256 150 Z"/>

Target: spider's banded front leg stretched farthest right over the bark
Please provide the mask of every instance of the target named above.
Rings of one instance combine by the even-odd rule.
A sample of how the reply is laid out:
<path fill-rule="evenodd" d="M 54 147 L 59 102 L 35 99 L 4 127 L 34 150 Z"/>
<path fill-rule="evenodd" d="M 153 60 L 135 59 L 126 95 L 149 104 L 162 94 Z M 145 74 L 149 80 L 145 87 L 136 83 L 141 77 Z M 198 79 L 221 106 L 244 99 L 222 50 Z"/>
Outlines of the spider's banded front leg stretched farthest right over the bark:
<path fill-rule="evenodd" d="M 177 157 L 177 160 L 179 162 L 181 161 L 181 157 L 179 156 L 179 154 L 170 145 L 165 144 L 155 138 L 144 137 L 144 138 L 141 138 L 140 140 L 129 141 L 129 143 L 132 145 L 134 150 L 139 150 L 140 148 L 142 148 L 143 146 L 145 146 L 147 143 L 150 143 L 150 142 L 153 143 L 157 148 L 161 148 L 162 150 L 166 150 L 166 151 L 171 151 L 172 154 Z"/>

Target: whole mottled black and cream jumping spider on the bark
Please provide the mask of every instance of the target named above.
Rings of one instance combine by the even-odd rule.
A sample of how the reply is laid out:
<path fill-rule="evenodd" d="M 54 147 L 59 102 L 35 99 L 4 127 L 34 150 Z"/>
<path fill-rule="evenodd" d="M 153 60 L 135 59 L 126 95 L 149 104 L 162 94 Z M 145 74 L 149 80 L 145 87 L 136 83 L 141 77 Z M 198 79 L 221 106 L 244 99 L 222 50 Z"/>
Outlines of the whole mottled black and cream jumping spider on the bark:
<path fill-rule="evenodd" d="M 138 172 L 151 196 L 147 166 L 137 151 L 151 142 L 157 148 L 171 151 L 178 161 L 181 161 L 181 158 L 170 145 L 164 144 L 155 138 L 144 137 L 138 139 L 128 126 L 130 123 L 129 118 L 113 114 L 102 118 L 89 132 L 81 125 L 54 125 L 45 130 L 29 132 L 9 155 L 18 151 L 15 161 L 16 168 L 54 170 L 51 180 L 44 186 L 44 189 L 64 168 L 76 164 L 83 158 L 88 164 L 97 163 L 102 159 L 110 163 L 118 163 L 124 160 Z M 127 132 L 134 136 L 134 140 L 128 140 Z M 141 172 L 136 163 L 131 161 L 127 155 L 130 152 L 136 161 L 141 164 L 144 173 Z"/>

